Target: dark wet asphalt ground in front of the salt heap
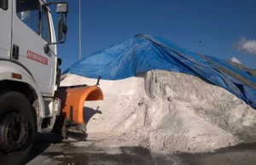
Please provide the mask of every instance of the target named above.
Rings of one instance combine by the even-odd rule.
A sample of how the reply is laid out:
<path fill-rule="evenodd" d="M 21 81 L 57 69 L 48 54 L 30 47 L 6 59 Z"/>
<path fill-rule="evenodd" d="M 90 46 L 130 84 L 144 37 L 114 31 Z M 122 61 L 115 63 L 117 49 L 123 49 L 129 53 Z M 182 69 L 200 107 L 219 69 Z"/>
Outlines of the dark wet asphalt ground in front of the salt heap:
<path fill-rule="evenodd" d="M 108 153 L 108 148 L 99 148 L 88 141 L 84 145 L 74 145 L 78 141 L 62 141 L 58 134 L 40 134 L 32 148 L 29 165 L 44 164 L 161 164 L 161 165 L 241 165 L 256 164 L 256 144 L 242 144 L 222 148 L 208 153 L 155 154 L 140 146 L 122 146 L 119 152 Z M 61 143 L 61 144 L 60 144 Z M 56 144 L 56 145 L 53 145 Z M 86 145 L 87 144 L 87 145 Z M 107 146 L 108 147 L 108 146 Z M 42 162 L 48 159 L 48 162 Z"/>

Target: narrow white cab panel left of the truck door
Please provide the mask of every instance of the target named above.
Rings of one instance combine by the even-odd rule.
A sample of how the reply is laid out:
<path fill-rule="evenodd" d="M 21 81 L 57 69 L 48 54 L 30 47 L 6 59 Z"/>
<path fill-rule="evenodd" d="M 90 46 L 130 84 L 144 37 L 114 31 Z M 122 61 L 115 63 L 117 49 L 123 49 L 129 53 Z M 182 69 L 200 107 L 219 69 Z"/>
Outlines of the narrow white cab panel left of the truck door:
<path fill-rule="evenodd" d="M 12 0 L 0 0 L 0 60 L 9 59 L 11 48 Z"/>

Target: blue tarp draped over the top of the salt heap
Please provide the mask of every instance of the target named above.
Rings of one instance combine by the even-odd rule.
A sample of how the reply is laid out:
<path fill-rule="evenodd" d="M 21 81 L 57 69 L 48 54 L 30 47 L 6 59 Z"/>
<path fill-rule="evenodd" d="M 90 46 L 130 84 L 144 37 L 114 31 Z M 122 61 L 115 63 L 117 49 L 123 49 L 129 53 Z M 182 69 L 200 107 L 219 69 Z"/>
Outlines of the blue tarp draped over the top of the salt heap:
<path fill-rule="evenodd" d="M 138 35 L 79 60 L 62 74 L 118 80 L 155 69 L 183 72 L 227 89 L 256 109 L 255 70 L 236 65 L 196 54 L 161 37 Z"/>

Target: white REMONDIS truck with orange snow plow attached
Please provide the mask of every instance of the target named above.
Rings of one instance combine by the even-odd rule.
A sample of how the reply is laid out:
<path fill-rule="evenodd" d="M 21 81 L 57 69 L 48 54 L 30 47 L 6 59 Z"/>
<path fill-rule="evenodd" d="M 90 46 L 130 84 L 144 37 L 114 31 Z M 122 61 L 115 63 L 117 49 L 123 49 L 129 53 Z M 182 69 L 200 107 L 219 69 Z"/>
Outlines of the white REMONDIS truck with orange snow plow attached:
<path fill-rule="evenodd" d="M 56 45 L 66 41 L 67 13 L 64 2 L 0 0 L 1 165 L 23 164 L 37 132 L 84 135 L 84 101 L 103 100 L 97 85 L 60 87 Z"/>

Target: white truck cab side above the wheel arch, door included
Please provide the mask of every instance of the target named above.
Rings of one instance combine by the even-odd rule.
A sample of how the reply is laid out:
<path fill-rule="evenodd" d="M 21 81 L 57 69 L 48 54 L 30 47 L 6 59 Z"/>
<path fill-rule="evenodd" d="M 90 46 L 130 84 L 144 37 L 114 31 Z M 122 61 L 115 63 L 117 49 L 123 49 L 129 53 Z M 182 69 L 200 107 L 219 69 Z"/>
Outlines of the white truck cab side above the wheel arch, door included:
<path fill-rule="evenodd" d="M 3 0 L 0 10 L 1 59 L 12 60 L 26 68 L 43 96 L 52 97 L 56 90 L 57 52 L 55 29 L 49 7 L 44 1 Z"/>

